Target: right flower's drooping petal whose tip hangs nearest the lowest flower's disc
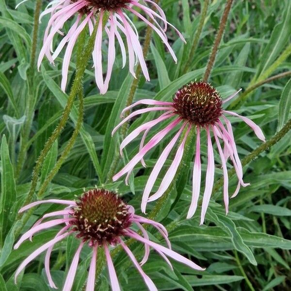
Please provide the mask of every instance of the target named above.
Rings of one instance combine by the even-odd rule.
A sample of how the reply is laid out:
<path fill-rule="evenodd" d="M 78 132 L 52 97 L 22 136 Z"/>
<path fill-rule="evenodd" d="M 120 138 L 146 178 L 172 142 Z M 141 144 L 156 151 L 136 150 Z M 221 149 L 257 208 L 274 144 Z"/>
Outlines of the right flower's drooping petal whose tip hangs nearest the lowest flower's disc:
<path fill-rule="evenodd" d="M 167 157 L 169 156 L 172 148 L 175 146 L 181 132 L 183 131 L 183 129 L 185 128 L 185 123 L 182 125 L 182 127 L 178 130 L 178 132 L 176 133 L 176 135 L 173 137 L 173 139 L 170 141 L 170 143 L 165 147 L 165 149 L 162 151 L 162 154 L 160 155 L 158 161 L 156 162 L 152 172 L 150 173 L 147 182 L 146 182 L 146 187 L 144 190 L 144 194 L 143 194 L 143 198 L 142 198 L 142 205 L 141 205 L 141 209 L 144 213 L 146 213 L 146 204 L 147 204 L 147 200 L 149 197 L 149 194 L 155 184 L 156 179 L 158 178 L 158 175 L 162 169 L 162 166 L 164 165 Z"/>

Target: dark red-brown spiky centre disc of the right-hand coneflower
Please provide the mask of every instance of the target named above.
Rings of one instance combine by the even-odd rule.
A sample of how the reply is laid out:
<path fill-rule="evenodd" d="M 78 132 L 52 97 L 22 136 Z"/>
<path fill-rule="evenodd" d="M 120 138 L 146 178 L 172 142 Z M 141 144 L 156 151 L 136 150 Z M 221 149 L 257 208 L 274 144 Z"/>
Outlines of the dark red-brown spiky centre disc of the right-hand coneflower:
<path fill-rule="evenodd" d="M 199 126 L 212 125 L 222 115 L 220 94 L 209 83 L 191 82 L 176 93 L 173 99 L 175 113 Z"/>

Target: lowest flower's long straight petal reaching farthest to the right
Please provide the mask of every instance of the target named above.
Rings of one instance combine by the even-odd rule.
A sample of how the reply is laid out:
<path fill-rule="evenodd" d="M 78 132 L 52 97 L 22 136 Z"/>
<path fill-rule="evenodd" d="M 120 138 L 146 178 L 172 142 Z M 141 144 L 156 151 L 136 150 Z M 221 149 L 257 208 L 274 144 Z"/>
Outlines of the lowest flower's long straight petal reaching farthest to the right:
<path fill-rule="evenodd" d="M 143 237 L 141 237 L 140 235 L 138 235 L 137 233 L 128 231 L 127 235 L 129 235 L 130 237 L 136 239 L 137 241 L 143 242 L 143 243 L 147 243 L 149 244 L 152 248 L 154 248 L 155 250 L 159 250 L 162 253 L 164 253 L 165 255 L 167 255 L 168 257 L 175 259 L 176 261 L 183 263 L 195 270 L 198 271 L 204 271 L 205 268 L 201 268 L 200 266 L 198 266 L 197 264 L 195 264 L 193 261 L 191 261 L 190 259 L 186 259 L 183 256 L 181 256 L 180 254 L 156 243 L 156 242 L 152 242 L 152 241 L 147 241 L 146 239 L 144 239 Z"/>

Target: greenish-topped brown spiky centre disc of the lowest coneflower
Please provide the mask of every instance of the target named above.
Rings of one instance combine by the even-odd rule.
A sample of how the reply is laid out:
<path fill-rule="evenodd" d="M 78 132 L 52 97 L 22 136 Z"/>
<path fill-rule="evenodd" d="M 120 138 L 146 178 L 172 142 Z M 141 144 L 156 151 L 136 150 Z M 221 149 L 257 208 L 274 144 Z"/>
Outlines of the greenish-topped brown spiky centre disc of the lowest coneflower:
<path fill-rule="evenodd" d="M 114 244 L 131 224 L 127 205 L 116 193 L 104 189 L 85 192 L 72 210 L 76 218 L 72 224 L 79 231 L 77 237 L 93 244 L 104 241 Z"/>

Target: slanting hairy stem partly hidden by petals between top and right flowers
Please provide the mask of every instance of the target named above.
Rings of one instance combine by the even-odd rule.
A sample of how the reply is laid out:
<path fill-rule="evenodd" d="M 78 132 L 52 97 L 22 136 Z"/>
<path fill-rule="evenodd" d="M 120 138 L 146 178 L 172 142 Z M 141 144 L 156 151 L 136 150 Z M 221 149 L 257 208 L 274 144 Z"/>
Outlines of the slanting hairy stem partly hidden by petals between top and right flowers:
<path fill-rule="evenodd" d="M 154 0 L 154 2 L 158 3 L 159 0 Z M 153 20 L 151 18 L 148 21 L 150 23 L 153 23 Z M 152 31 L 153 31 L 153 29 L 148 25 L 147 28 L 146 28 L 146 36 L 145 36 L 145 41 L 144 41 L 144 44 L 143 44 L 143 55 L 144 55 L 145 59 L 146 59 L 147 53 L 149 51 Z M 133 97 L 135 95 L 138 83 L 140 81 L 141 73 L 142 73 L 142 67 L 141 67 L 140 64 L 138 64 L 137 68 L 136 68 L 136 71 L 135 71 L 136 78 L 133 79 L 133 81 L 132 81 L 132 84 L 131 84 L 131 87 L 130 87 L 130 90 L 129 90 L 129 96 L 128 96 L 127 102 L 126 102 L 126 107 L 129 106 L 132 103 L 132 100 L 133 100 Z M 125 117 L 127 117 L 129 115 L 129 112 L 126 112 L 124 115 L 125 115 Z M 125 136 L 127 134 L 127 130 L 128 130 L 128 123 L 125 123 L 120 129 L 120 139 L 121 140 L 123 140 L 125 138 Z M 107 183 L 112 180 L 119 161 L 120 161 L 119 151 L 118 151 L 118 149 L 116 147 L 114 159 L 113 159 L 112 164 L 111 164 L 111 166 L 109 168 L 109 171 L 108 171 L 108 175 L 107 175 L 107 179 L 106 179 Z"/>

